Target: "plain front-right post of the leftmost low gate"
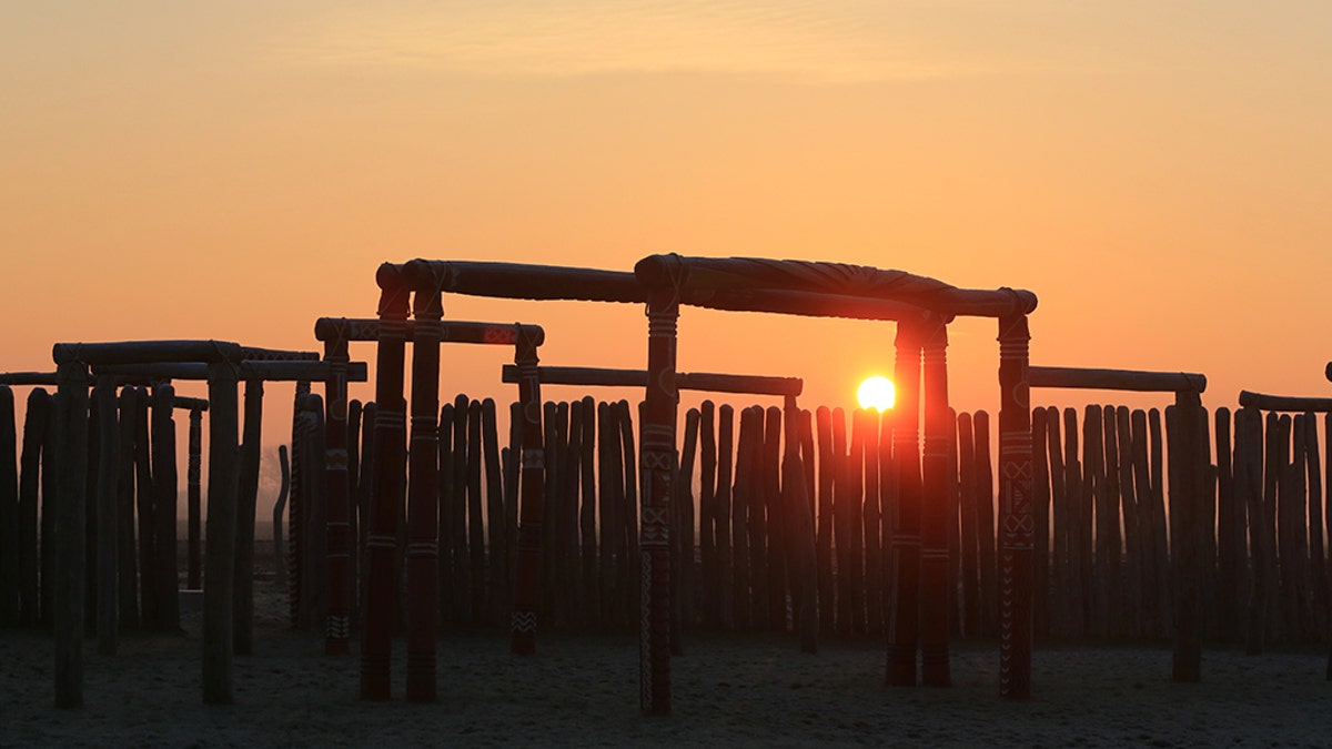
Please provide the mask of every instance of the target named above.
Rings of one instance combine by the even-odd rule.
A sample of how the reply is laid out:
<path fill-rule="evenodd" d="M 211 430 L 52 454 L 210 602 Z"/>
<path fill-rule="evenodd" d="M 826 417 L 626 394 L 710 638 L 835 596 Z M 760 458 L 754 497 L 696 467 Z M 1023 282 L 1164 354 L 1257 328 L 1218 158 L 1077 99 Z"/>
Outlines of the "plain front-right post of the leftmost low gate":
<path fill-rule="evenodd" d="M 208 526 L 204 558 L 204 702 L 232 702 L 232 601 L 236 570 L 237 457 L 236 369 L 208 365 Z M 174 580 L 172 581 L 174 582 Z"/>

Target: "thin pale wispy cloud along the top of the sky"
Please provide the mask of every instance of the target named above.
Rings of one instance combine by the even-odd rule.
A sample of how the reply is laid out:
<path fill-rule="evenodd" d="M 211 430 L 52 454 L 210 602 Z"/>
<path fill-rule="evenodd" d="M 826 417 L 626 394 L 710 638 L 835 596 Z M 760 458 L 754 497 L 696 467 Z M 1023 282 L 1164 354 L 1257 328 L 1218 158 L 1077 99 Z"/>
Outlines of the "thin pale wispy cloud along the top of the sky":
<path fill-rule="evenodd" d="M 950 31 L 959 13 L 983 8 L 898 3 L 886 11 L 862 3 L 753 0 L 444 3 L 330 13 L 296 29 L 281 56 L 312 65 L 514 76 L 710 72 L 840 81 L 1030 72 L 1051 64 L 1039 48 L 1004 48 Z"/>

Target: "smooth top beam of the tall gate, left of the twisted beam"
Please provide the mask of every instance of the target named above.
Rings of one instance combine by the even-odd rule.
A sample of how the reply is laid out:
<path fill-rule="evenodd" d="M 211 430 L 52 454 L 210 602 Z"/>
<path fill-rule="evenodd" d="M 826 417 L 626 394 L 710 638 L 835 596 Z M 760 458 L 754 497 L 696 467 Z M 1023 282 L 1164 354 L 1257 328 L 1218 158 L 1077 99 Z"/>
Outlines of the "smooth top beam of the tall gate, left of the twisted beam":
<path fill-rule="evenodd" d="M 645 303 L 633 273 L 593 268 L 416 259 L 402 265 L 402 283 L 417 293 L 461 293 L 501 299 Z"/>

